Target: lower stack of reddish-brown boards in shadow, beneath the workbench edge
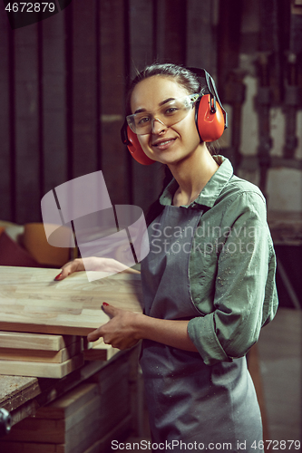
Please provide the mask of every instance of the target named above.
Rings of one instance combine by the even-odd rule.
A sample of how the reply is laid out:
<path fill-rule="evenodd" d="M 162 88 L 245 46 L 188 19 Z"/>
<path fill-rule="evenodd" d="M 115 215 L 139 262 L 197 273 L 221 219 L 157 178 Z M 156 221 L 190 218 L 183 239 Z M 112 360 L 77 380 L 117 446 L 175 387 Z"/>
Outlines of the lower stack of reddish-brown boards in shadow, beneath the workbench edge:
<path fill-rule="evenodd" d="M 131 354 L 131 352 L 130 352 Z M 17 423 L 0 451 L 9 453 L 100 453 L 131 426 L 132 358 L 123 356 L 73 390 Z"/>

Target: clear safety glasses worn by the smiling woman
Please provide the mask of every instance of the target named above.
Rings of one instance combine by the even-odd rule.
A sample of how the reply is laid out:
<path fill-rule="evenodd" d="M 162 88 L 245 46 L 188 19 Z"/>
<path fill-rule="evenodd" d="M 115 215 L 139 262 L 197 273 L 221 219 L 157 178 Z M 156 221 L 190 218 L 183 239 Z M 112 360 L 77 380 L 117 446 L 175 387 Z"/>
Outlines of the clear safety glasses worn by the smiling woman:
<path fill-rule="evenodd" d="M 169 128 L 183 120 L 200 97 L 200 93 L 190 94 L 184 98 L 165 102 L 156 111 L 140 111 L 133 115 L 128 115 L 126 117 L 128 126 L 138 135 L 150 134 L 154 120 L 160 121 L 161 124 Z"/>

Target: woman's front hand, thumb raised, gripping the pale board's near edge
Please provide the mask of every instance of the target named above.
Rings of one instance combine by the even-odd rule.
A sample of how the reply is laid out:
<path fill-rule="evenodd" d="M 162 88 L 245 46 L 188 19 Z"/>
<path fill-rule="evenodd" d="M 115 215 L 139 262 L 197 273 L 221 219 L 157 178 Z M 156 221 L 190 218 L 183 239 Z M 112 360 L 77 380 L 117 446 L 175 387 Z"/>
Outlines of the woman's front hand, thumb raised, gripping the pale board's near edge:
<path fill-rule="evenodd" d="M 135 329 L 138 313 L 128 312 L 106 303 L 102 304 L 102 309 L 111 317 L 111 320 L 89 333 L 88 342 L 95 342 L 102 337 L 104 343 L 123 350 L 131 348 L 140 341 L 141 338 Z"/>

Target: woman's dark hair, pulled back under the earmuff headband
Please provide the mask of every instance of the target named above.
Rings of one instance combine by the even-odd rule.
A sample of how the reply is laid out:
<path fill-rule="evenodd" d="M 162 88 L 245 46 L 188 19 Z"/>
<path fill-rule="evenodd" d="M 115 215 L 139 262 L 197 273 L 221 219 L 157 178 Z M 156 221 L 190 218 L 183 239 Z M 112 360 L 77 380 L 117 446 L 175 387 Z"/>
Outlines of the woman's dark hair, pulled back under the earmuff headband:
<path fill-rule="evenodd" d="M 207 88 L 205 82 L 200 81 L 199 77 L 194 72 L 191 72 L 189 69 L 184 68 L 183 66 L 178 66 L 177 64 L 173 63 L 153 63 L 149 66 L 146 66 L 141 72 L 138 72 L 136 77 L 132 80 L 126 99 L 126 115 L 130 115 L 132 113 L 131 98 L 135 86 L 139 82 L 155 75 L 173 78 L 175 82 L 179 83 L 181 87 L 187 90 L 188 94 L 201 92 L 203 89 Z M 211 154 L 215 153 L 215 146 L 212 146 L 211 143 L 209 145 L 207 143 L 207 146 Z M 163 167 L 165 176 L 163 178 L 163 187 L 161 189 L 161 194 L 173 178 L 169 167 L 167 165 L 164 165 Z M 159 195 L 159 198 L 161 197 L 161 194 Z M 147 210 L 147 226 L 149 226 L 151 222 L 156 217 L 158 217 L 163 210 L 163 206 L 161 205 L 159 198 L 155 200 Z"/>

